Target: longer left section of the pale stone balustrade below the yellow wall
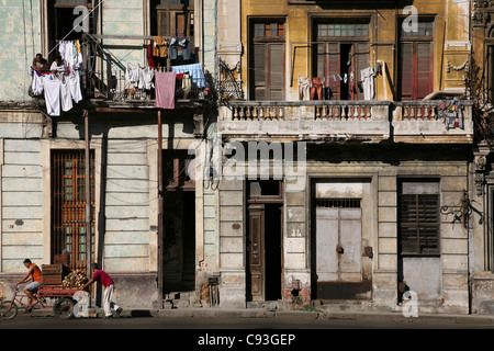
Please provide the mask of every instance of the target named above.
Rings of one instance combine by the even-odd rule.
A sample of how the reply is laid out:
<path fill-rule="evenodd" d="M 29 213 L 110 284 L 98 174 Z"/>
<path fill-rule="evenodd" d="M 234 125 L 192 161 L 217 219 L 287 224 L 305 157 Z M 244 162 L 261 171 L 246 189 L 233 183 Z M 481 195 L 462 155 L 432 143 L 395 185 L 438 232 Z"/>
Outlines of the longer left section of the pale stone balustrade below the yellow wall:
<path fill-rule="evenodd" d="M 390 137 L 390 102 L 231 101 L 218 131 L 227 138 L 360 139 Z"/>

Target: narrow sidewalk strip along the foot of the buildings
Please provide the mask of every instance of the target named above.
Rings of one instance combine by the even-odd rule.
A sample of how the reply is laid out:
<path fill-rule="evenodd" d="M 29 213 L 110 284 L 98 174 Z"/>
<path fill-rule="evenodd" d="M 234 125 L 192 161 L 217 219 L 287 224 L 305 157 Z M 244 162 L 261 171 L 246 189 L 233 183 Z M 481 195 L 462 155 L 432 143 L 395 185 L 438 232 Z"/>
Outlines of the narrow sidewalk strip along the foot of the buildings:
<path fill-rule="evenodd" d="M 102 308 L 90 308 L 90 317 L 104 317 Z M 53 316 L 50 309 L 34 310 L 33 317 Z M 325 312 L 325 310 L 269 310 L 266 308 L 225 309 L 218 307 L 175 308 L 175 309 L 123 309 L 121 318 L 291 318 L 291 319 L 346 319 L 381 320 L 392 322 L 442 322 L 494 326 L 494 315 L 441 315 L 419 314 L 418 317 L 404 317 L 401 313 L 384 312 Z"/>

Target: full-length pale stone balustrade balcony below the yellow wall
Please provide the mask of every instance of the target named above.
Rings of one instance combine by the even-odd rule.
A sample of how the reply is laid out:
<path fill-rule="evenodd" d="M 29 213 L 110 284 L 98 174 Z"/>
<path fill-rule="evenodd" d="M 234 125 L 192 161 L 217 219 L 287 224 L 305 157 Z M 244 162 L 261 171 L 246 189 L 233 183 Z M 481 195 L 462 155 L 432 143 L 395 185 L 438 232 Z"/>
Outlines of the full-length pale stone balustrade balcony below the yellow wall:
<path fill-rule="evenodd" d="M 472 143 L 472 103 L 459 103 L 456 116 L 441 107 L 440 101 L 224 101 L 218 132 L 228 140 Z"/>

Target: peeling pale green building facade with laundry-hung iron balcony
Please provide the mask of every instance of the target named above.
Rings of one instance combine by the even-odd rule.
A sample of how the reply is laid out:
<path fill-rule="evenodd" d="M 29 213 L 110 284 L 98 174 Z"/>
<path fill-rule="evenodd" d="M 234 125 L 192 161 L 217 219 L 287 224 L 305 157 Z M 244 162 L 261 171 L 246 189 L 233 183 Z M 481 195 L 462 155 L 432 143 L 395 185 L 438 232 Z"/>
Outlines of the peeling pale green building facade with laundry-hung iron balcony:
<path fill-rule="evenodd" d="M 217 257 L 209 258 L 215 251 L 214 193 L 209 196 L 192 177 L 202 172 L 197 160 L 206 158 L 206 121 L 214 117 L 214 1 L 32 3 L 1 10 L 0 50 L 10 53 L 2 61 L 16 65 L 3 66 L 0 88 L 1 298 L 25 274 L 25 258 L 42 267 L 68 254 L 72 269 L 99 262 L 128 308 L 177 305 L 173 292 L 188 293 L 182 305 L 200 305 Z M 86 19 L 86 31 L 76 31 L 76 20 L 85 25 Z M 169 47 L 154 57 L 155 72 L 178 77 L 186 71 L 176 68 L 188 66 L 191 76 L 188 95 L 181 82 L 173 89 L 172 109 L 156 107 L 154 90 L 128 78 L 128 67 L 151 67 L 149 44 L 157 37 Z M 175 56 L 171 38 L 188 41 Z M 64 42 L 76 41 L 83 99 L 52 115 L 45 95 L 29 94 L 31 63 L 41 53 L 52 64 Z M 210 233 L 213 239 L 204 242 Z"/>

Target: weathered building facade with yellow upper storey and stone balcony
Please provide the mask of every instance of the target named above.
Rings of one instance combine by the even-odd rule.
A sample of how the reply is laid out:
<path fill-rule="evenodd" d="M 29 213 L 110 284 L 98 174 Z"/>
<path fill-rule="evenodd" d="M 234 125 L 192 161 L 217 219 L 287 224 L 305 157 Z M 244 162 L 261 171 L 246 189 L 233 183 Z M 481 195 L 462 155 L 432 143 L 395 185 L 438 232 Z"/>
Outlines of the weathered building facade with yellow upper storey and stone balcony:
<path fill-rule="evenodd" d="M 245 155 L 268 149 L 255 155 L 272 163 L 218 184 L 224 306 L 398 310 L 409 294 L 422 312 L 470 312 L 470 11 L 458 1 L 232 2 L 240 25 L 218 25 L 218 57 L 242 94 L 223 94 L 218 133 Z M 461 107 L 448 117 L 451 101 Z M 290 159 L 305 155 L 299 177 L 276 177 L 278 145 L 306 149 Z"/>

